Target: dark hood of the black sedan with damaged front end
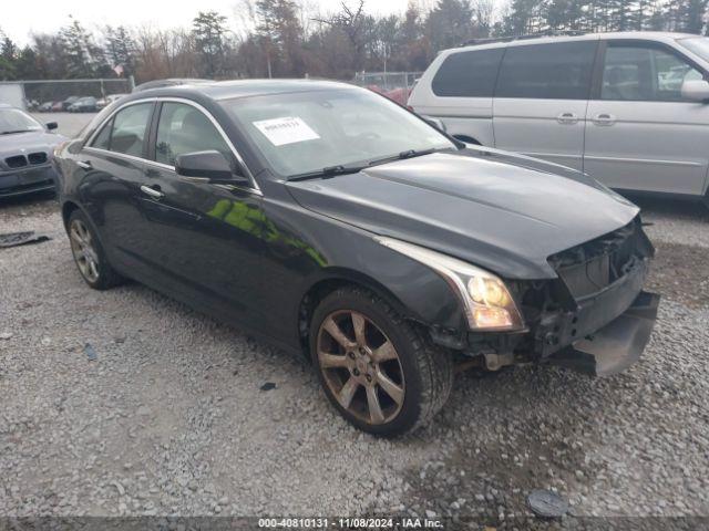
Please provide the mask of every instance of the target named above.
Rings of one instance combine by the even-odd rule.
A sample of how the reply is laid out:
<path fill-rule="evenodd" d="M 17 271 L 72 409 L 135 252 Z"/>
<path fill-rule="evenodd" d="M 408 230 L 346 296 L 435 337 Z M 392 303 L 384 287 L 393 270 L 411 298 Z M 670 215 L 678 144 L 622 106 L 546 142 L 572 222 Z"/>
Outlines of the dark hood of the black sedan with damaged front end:
<path fill-rule="evenodd" d="M 431 154 L 286 186 L 305 208 L 508 279 L 555 278 L 547 257 L 638 214 L 578 171 L 497 150 Z"/>

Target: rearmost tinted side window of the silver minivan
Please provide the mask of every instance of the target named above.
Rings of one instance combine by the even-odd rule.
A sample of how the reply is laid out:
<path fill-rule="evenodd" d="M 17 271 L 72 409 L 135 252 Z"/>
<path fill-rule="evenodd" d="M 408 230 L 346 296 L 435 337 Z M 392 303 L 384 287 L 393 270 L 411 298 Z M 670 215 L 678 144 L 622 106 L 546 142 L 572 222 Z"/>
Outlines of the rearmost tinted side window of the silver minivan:
<path fill-rule="evenodd" d="M 504 48 L 452 53 L 433 76 L 436 96 L 492 97 Z"/>

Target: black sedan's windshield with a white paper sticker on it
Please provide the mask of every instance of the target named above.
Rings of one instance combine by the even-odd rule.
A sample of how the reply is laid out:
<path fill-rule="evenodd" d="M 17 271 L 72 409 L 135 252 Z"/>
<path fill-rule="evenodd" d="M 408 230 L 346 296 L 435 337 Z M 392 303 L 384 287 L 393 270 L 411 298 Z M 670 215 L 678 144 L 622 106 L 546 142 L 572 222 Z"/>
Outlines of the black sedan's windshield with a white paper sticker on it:
<path fill-rule="evenodd" d="M 455 148 L 422 119 L 360 88 L 244 97 L 223 105 L 286 177 L 366 166 L 404 152 Z"/>

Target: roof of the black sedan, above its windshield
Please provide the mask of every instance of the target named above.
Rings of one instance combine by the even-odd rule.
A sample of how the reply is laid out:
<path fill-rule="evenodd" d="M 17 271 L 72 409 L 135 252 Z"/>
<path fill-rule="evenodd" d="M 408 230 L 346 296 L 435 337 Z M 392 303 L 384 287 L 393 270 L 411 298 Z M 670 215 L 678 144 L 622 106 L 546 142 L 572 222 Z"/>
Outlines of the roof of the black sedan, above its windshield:
<path fill-rule="evenodd" d="M 238 80 L 185 83 L 173 86 L 148 88 L 133 93 L 133 96 L 189 96 L 203 94 L 213 100 L 230 100 L 235 97 L 263 96 L 269 94 L 285 94 L 292 92 L 312 92 L 338 88 L 352 88 L 348 83 L 316 80 Z"/>

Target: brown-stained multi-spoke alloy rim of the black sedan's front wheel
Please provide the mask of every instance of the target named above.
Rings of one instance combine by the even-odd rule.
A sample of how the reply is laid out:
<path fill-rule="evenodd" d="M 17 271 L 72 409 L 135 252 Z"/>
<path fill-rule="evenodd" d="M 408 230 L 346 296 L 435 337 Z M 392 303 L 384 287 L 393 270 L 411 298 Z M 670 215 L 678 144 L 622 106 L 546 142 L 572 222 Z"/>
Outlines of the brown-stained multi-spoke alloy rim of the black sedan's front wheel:
<path fill-rule="evenodd" d="M 340 310 L 318 331 L 318 362 L 339 405 L 360 420 L 381 425 L 403 405 L 405 384 L 392 342 L 364 314 Z"/>

